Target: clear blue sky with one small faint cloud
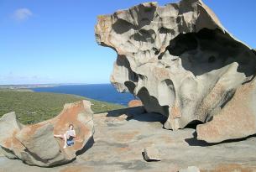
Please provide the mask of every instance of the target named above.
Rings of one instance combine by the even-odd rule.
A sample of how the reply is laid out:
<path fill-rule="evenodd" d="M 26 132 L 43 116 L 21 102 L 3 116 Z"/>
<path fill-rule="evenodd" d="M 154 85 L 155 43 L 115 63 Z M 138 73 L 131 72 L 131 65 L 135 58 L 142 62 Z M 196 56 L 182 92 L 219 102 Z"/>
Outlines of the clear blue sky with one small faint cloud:
<path fill-rule="evenodd" d="M 109 83 L 117 55 L 97 45 L 97 15 L 144 2 L 0 0 L 0 85 Z M 204 2 L 230 33 L 256 48 L 255 0 Z"/>

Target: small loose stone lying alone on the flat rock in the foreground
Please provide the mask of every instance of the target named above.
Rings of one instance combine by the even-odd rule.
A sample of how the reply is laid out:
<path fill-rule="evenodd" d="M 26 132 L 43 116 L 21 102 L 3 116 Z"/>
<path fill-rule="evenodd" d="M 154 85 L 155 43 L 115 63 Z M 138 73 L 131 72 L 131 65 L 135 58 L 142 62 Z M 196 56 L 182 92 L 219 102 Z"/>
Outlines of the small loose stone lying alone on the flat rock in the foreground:
<path fill-rule="evenodd" d="M 148 162 L 161 160 L 159 150 L 153 146 L 145 148 L 144 151 L 142 152 L 142 154 L 144 156 L 144 160 L 148 161 Z"/>

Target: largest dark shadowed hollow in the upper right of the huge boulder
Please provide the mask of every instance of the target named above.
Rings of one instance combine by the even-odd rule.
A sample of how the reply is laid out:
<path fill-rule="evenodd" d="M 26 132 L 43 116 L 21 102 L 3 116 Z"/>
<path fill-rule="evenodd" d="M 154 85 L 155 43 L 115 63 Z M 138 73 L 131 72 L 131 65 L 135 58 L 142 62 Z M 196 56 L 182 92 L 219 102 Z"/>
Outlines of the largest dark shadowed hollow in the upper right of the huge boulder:
<path fill-rule="evenodd" d="M 219 29 L 179 34 L 170 40 L 166 50 L 170 55 L 179 56 L 182 67 L 194 76 L 219 70 L 232 63 L 237 63 L 237 71 L 247 77 L 253 76 L 256 70 L 255 52 Z"/>

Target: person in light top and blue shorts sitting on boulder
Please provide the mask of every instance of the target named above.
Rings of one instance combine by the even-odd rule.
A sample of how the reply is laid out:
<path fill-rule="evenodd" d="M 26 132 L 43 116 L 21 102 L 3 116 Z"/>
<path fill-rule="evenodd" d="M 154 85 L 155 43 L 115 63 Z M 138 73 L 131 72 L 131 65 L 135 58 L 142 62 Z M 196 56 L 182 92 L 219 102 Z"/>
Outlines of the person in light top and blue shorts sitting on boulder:
<path fill-rule="evenodd" d="M 76 132 L 75 132 L 73 124 L 69 125 L 69 130 L 66 131 L 63 135 L 55 134 L 54 136 L 55 136 L 55 138 L 63 138 L 64 139 L 65 143 L 64 143 L 63 149 L 65 149 L 67 146 L 71 146 L 72 144 L 74 144 L 73 138 L 76 138 Z"/>

